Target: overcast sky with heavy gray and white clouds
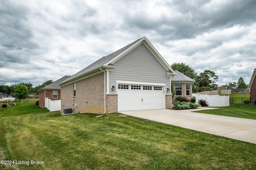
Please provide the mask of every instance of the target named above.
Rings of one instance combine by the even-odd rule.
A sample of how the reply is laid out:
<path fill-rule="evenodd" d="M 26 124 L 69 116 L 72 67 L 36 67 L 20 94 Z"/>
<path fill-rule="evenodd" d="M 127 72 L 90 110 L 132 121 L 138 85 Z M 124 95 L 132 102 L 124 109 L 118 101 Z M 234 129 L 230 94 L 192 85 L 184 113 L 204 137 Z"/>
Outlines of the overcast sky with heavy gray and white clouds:
<path fill-rule="evenodd" d="M 55 81 L 144 36 L 170 65 L 248 84 L 256 0 L 0 0 L 0 84 Z"/>

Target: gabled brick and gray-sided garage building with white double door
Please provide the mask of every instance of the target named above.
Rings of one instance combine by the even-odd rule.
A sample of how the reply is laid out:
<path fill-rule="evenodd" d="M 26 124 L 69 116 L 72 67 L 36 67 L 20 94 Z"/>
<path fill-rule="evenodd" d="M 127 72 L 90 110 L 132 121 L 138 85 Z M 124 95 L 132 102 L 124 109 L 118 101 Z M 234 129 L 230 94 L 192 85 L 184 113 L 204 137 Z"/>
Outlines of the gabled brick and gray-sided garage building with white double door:
<path fill-rule="evenodd" d="M 146 37 L 102 57 L 61 82 L 61 112 L 171 109 L 170 65 Z"/>

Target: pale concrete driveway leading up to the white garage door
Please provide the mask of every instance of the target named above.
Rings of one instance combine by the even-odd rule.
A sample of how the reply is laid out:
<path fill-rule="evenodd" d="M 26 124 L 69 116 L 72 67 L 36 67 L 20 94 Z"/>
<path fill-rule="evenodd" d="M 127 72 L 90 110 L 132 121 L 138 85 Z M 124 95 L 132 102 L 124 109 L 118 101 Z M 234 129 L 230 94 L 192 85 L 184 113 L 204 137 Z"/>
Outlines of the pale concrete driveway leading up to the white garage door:
<path fill-rule="evenodd" d="M 216 108 L 154 109 L 120 113 L 256 144 L 256 120 L 192 112 L 205 109 Z"/>

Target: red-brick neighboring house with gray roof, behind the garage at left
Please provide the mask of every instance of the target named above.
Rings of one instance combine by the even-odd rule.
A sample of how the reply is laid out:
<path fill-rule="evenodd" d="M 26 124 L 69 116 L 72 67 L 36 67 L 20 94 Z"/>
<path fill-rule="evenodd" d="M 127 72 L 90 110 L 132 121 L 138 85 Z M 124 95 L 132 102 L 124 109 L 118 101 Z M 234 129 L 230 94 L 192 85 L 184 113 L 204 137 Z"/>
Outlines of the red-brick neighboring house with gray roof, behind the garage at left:
<path fill-rule="evenodd" d="M 44 88 L 38 90 L 40 107 L 45 107 L 45 98 L 48 98 L 50 100 L 60 100 L 60 86 L 58 84 L 63 82 L 67 78 L 70 78 L 70 76 L 64 76 L 59 80 L 52 82 L 48 86 L 45 86 Z"/>

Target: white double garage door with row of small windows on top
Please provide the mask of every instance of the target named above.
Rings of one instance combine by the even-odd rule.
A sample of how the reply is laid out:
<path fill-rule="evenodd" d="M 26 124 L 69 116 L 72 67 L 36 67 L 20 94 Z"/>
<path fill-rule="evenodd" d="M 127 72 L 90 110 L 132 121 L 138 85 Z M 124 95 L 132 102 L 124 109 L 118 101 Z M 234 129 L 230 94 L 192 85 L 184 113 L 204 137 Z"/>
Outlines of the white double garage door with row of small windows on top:
<path fill-rule="evenodd" d="M 118 111 L 163 108 L 163 86 L 118 84 Z"/>

